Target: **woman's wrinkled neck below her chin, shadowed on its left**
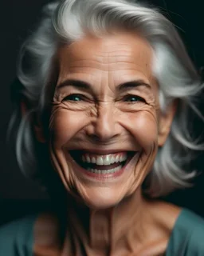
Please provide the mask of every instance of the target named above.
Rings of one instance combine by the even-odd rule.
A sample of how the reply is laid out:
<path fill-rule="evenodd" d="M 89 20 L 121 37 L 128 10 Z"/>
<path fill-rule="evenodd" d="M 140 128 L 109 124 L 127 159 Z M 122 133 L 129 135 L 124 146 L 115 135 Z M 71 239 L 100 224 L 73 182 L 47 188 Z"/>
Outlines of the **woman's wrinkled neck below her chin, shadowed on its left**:
<path fill-rule="evenodd" d="M 146 236 L 145 212 L 147 202 L 140 190 L 106 210 L 91 210 L 70 202 L 69 247 L 73 247 L 73 254 L 80 250 L 79 255 L 117 255 L 121 249 L 131 253 L 135 243 Z"/>

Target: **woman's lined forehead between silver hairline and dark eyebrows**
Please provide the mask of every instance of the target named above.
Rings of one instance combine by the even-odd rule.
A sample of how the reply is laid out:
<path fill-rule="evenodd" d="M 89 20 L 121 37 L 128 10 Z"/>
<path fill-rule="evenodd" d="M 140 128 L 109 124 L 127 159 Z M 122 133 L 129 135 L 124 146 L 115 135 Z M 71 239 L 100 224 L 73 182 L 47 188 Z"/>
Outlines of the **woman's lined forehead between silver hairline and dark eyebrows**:
<path fill-rule="evenodd" d="M 135 70 L 151 76 L 152 49 L 148 42 L 132 33 L 86 36 L 58 51 L 60 77 L 74 72 Z"/>

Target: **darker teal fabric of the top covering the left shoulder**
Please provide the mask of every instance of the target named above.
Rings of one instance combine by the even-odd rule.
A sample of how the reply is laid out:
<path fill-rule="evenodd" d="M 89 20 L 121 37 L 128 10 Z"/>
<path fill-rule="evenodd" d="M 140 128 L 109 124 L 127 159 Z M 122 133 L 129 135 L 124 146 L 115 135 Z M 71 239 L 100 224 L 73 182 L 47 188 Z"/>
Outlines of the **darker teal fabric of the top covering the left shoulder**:
<path fill-rule="evenodd" d="M 0 226 L 0 256 L 32 255 L 36 218 L 37 214 Z"/>

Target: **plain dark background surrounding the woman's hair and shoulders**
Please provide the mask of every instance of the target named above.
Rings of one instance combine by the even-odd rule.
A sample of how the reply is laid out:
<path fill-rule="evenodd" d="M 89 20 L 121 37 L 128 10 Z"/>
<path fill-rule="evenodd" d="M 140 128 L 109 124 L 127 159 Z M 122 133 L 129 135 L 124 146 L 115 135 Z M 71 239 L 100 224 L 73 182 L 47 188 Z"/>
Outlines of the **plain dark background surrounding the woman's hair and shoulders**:
<path fill-rule="evenodd" d="M 103 0 L 102 0 L 103 1 Z M 35 210 L 49 207 L 45 193 L 33 182 L 23 177 L 18 169 L 14 155 L 6 150 L 6 130 L 11 114 L 10 84 L 14 81 L 16 58 L 19 47 L 28 31 L 39 18 L 41 6 L 48 0 L 1 0 L 0 8 L 0 224 L 29 214 Z M 204 66 L 204 21 L 202 0 L 150 0 L 159 6 L 179 29 L 187 50 L 195 66 Z M 196 162 L 202 170 L 204 154 Z M 190 190 L 177 191 L 167 200 L 185 206 L 204 216 L 204 178 L 203 174 L 195 180 Z"/>

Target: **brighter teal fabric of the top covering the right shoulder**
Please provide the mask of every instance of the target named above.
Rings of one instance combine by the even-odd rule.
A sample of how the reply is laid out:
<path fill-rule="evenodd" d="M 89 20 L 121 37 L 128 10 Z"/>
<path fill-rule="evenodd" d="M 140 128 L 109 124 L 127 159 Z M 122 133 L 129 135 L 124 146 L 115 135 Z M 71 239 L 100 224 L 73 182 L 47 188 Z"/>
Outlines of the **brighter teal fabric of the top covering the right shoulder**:
<path fill-rule="evenodd" d="M 204 255 L 204 219 L 183 209 L 175 222 L 168 249 L 179 256 Z"/>

